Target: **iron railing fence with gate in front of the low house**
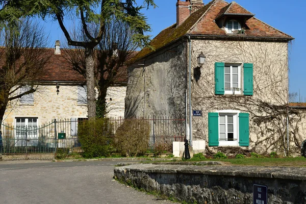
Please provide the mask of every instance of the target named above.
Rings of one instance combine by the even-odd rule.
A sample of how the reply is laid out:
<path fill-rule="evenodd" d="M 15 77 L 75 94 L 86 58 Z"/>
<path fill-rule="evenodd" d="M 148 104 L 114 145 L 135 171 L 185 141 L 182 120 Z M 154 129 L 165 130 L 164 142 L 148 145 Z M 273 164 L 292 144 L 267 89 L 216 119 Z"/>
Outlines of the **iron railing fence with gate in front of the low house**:
<path fill-rule="evenodd" d="M 82 145 L 78 139 L 78 125 L 84 118 L 52 120 L 44 125 L 36 123 L 25 125 L 1 124 L 0 154 L 15 159 L 52 159 L 62 150 L 69 154 L 82 154 Z M 124 120 L 144 120 L 149 123 L 148 151 L 172 152 L 173 141 L 184 141 L 186 125 L 184 119 L 154 117 L 142 119 L 109 118 L 111 134 L 106 140 L 116 142 L 116 132 Z M 147 137 L 147 136 L 146 136 Z M 107 146 L 108 152 L 118 152 L 113 145 Z"/>

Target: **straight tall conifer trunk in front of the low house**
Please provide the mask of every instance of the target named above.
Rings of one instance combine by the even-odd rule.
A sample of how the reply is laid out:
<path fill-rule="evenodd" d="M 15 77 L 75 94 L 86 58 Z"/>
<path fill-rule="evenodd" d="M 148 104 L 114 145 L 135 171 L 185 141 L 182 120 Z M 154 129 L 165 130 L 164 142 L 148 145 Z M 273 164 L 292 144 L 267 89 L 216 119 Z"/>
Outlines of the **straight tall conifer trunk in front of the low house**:
<path fill-rule="evenodd" d="M 93 48 L 85 48 L 88 118 L 96 117 Z"/>

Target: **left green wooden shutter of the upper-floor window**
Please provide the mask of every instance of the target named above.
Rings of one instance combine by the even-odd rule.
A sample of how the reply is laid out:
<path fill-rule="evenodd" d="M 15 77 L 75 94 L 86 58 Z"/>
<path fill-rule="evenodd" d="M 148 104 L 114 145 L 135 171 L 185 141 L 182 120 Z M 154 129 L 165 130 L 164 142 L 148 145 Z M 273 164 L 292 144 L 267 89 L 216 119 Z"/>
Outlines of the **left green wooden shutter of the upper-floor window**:
<path fill-rule="evenodd" d="M 215 63 L 215 94 L 224 95 L 224 62 Z"/>

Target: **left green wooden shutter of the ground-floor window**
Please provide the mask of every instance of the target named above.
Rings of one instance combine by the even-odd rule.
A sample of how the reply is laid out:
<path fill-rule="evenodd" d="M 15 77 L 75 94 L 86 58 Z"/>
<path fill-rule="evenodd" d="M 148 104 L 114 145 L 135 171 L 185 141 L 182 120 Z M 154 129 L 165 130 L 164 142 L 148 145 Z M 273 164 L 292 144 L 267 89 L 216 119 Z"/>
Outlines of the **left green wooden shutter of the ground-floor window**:
<path fill-rule="evenodd" d="M 208 145 L 219 146 L 219 113 L 208 113 Z"/>

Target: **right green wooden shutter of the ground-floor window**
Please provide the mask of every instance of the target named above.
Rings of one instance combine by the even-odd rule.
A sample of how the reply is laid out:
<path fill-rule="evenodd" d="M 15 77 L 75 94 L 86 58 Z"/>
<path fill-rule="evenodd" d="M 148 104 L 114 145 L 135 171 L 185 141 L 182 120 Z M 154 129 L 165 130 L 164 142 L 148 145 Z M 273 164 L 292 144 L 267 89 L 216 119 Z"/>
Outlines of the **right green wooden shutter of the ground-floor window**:
<path fill-rule="evenodd" d="M 239 146 L 249 146 L 248 113 L 239 113 Z"/>

